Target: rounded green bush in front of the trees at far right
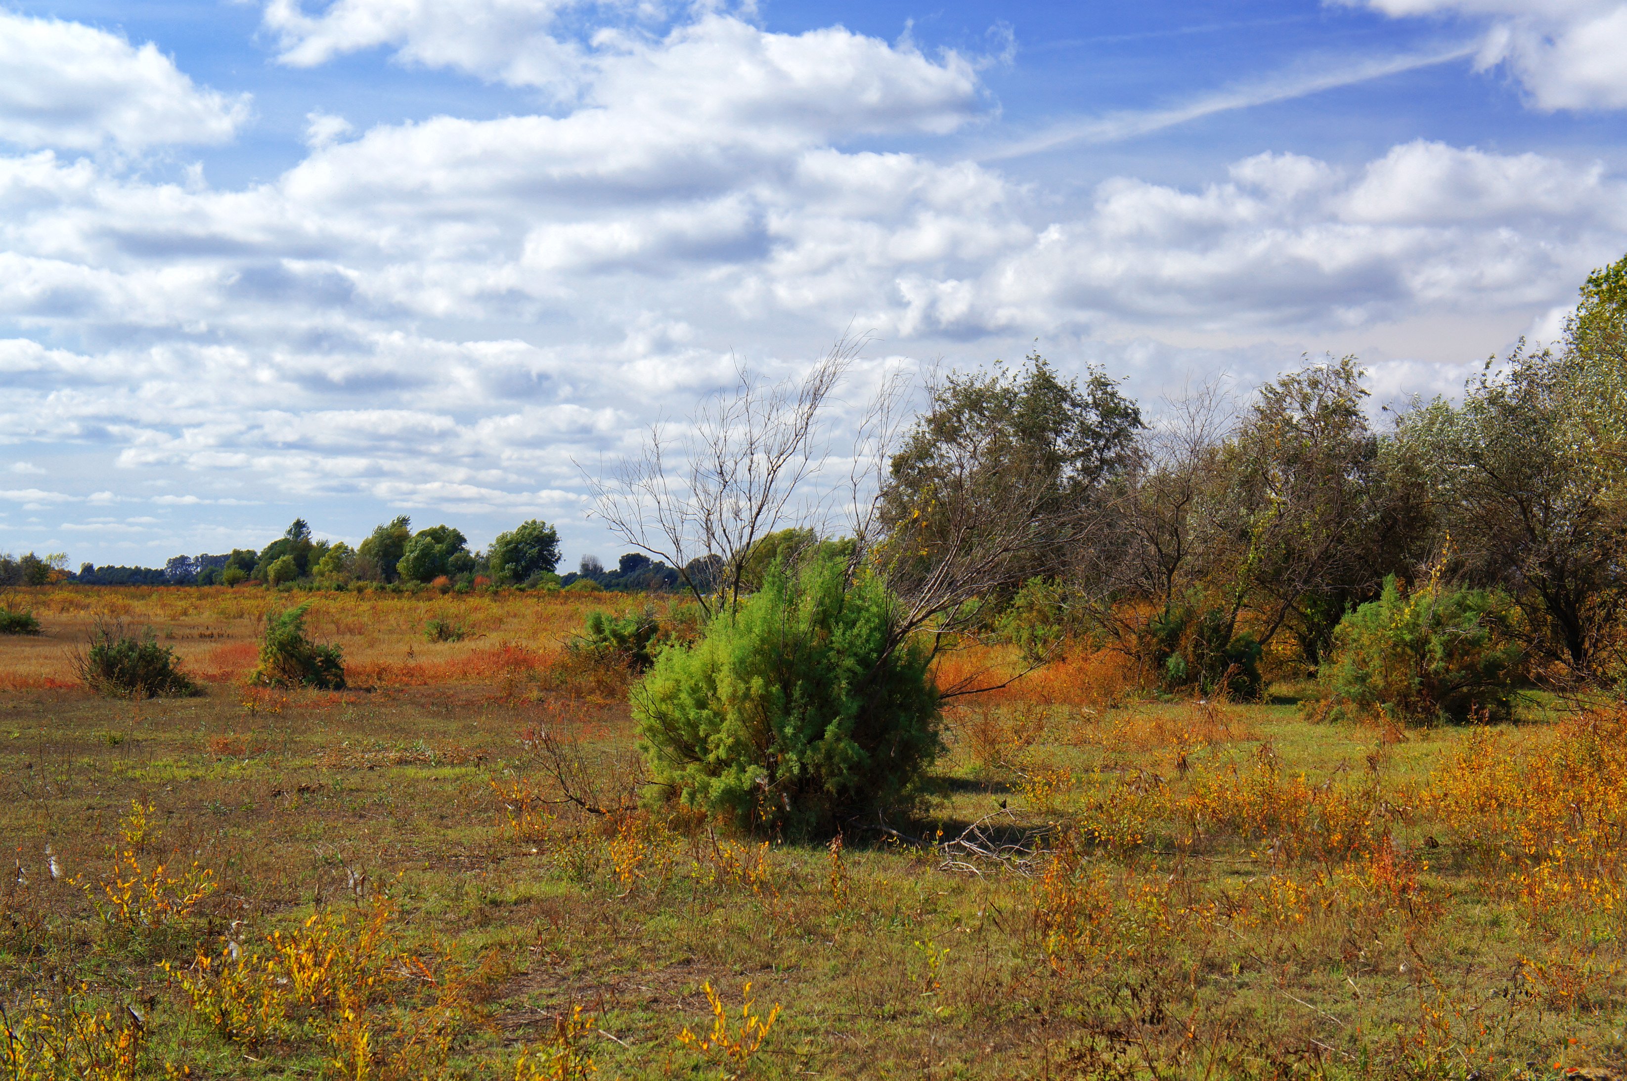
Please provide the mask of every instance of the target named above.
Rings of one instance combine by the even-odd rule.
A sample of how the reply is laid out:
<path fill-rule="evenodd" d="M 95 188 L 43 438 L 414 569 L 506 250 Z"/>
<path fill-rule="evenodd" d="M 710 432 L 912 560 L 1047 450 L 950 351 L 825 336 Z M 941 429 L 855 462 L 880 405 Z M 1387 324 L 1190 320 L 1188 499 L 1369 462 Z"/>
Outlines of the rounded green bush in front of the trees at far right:
<path fill-rule="evenodd" d="M 1388 717 L 1409 725 L 1492 718 L 1510 712 L 1520 649 L 1507 634 L 1508 598 L 1430 580 L 1404 593 L 1394 575 L 1383 595 L 1334 629 L 1318 673 L 1333 717 Z"/>

